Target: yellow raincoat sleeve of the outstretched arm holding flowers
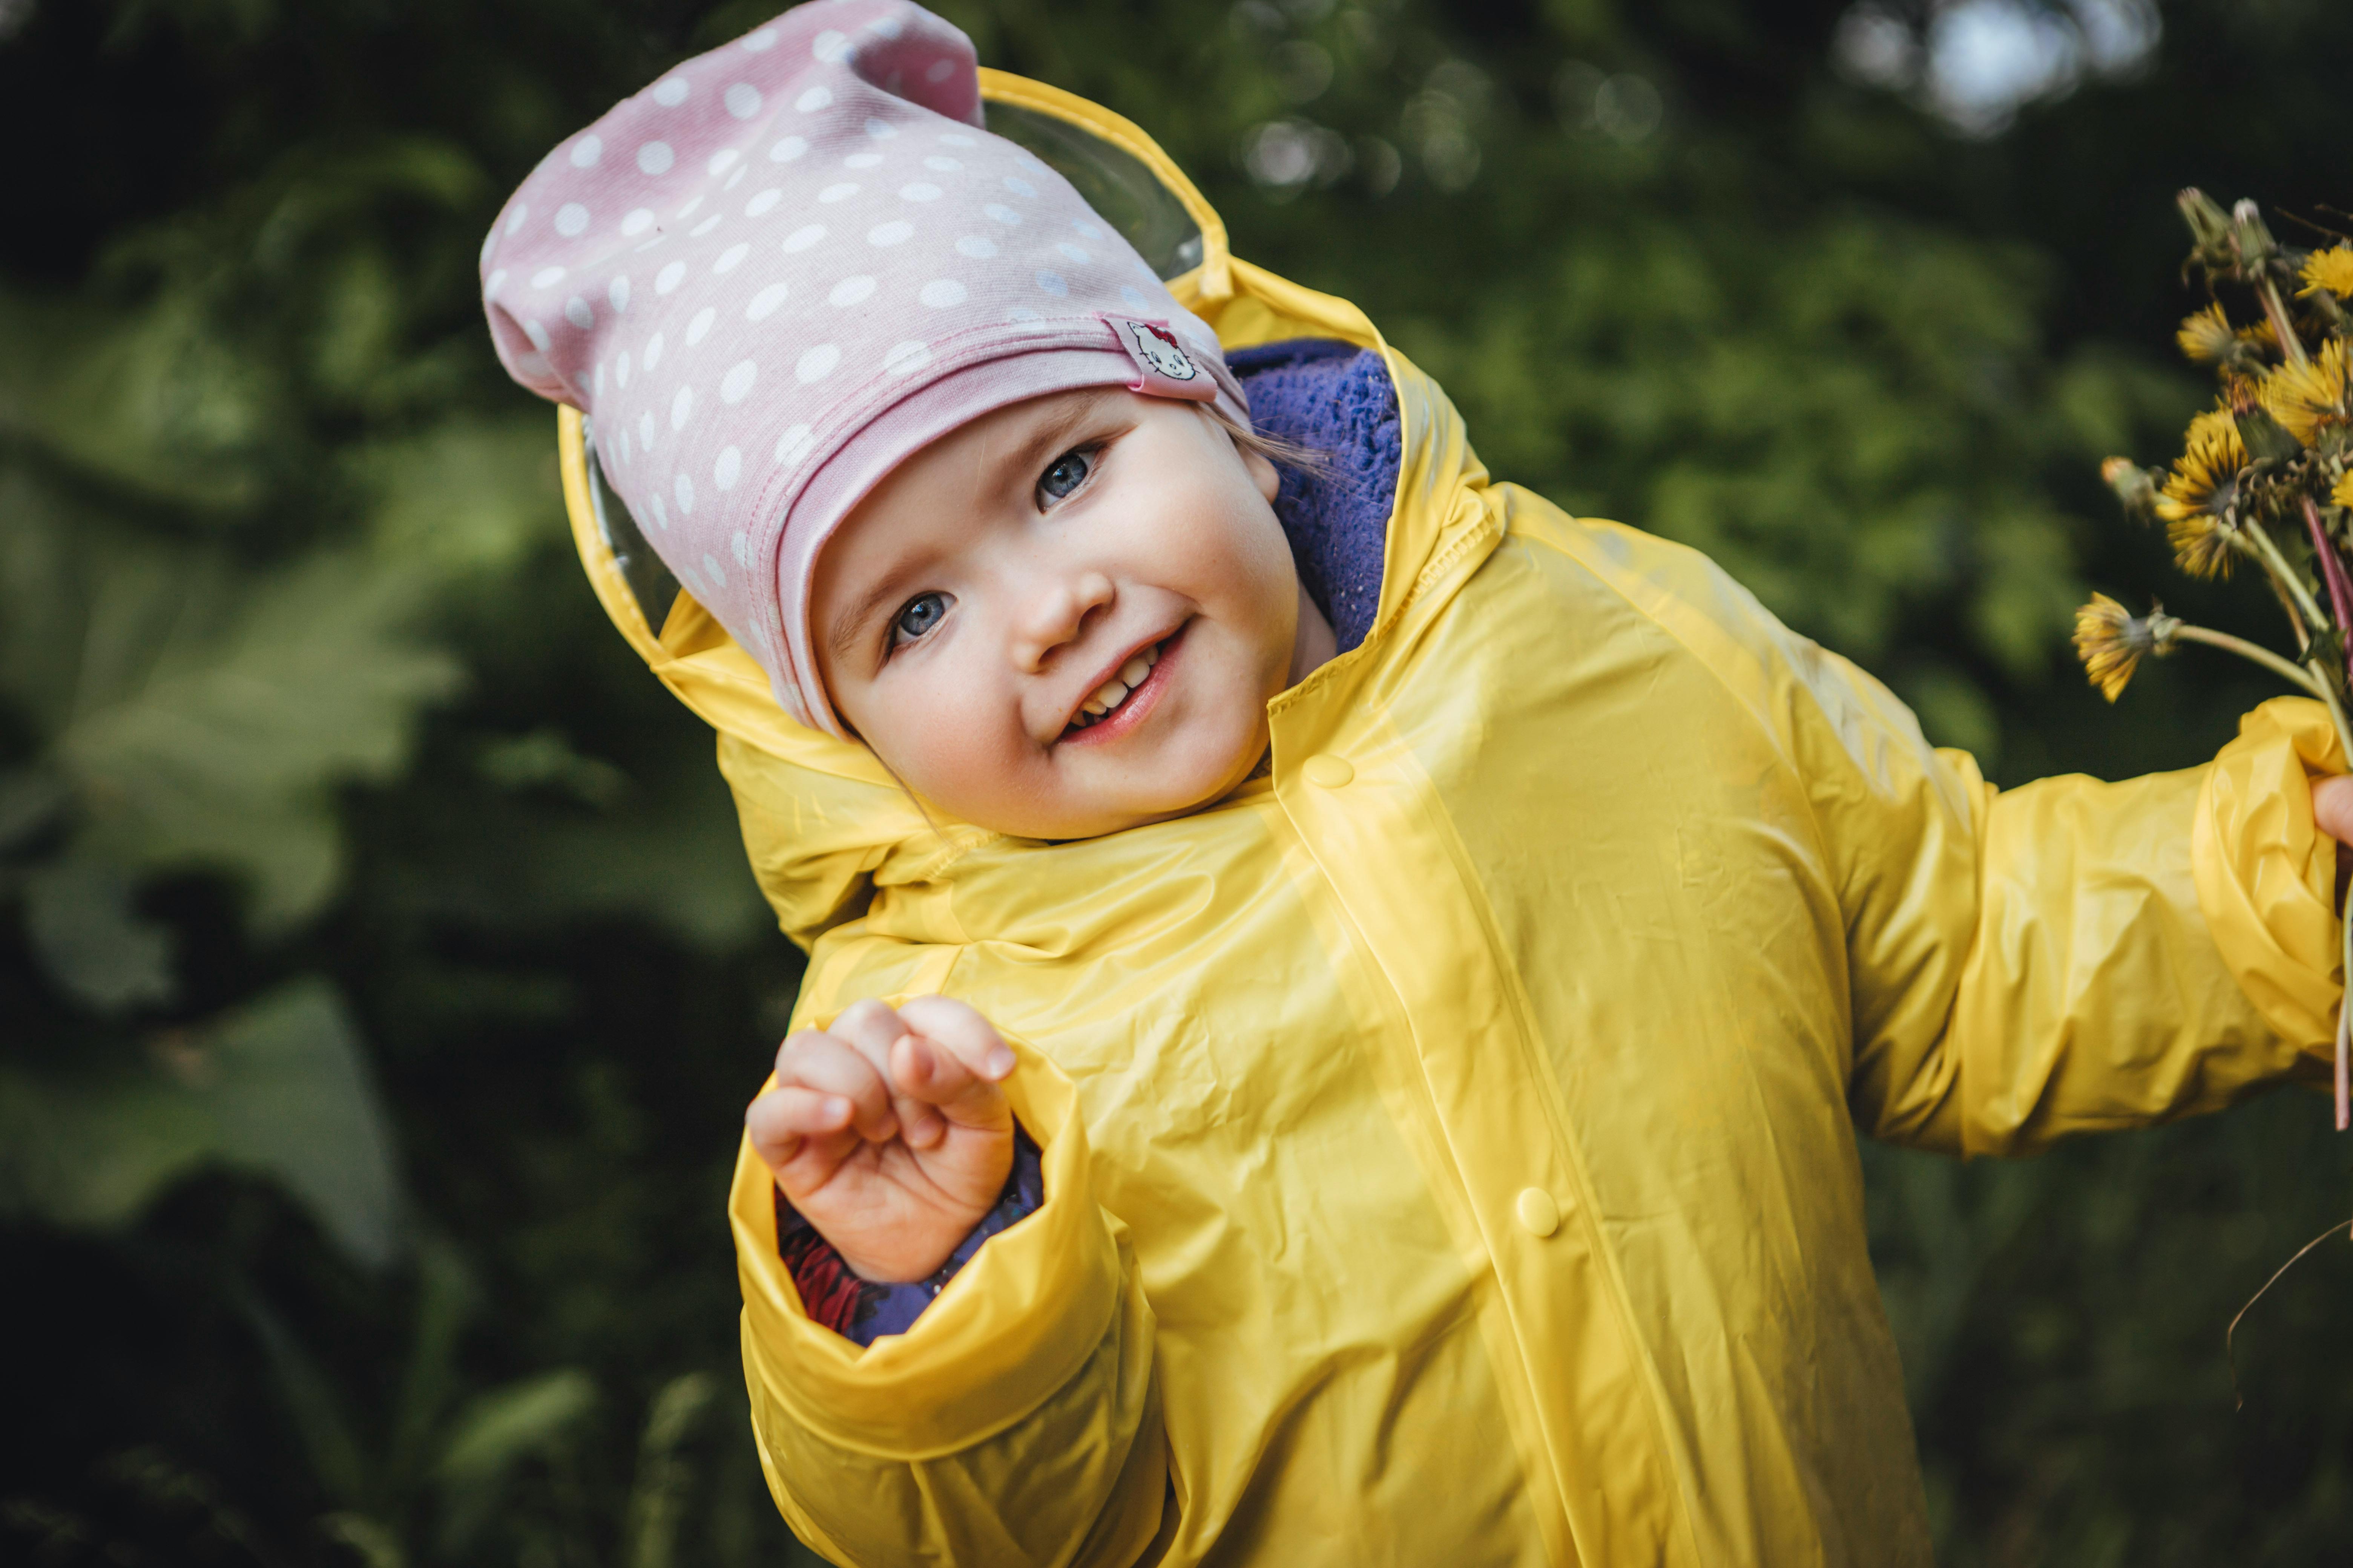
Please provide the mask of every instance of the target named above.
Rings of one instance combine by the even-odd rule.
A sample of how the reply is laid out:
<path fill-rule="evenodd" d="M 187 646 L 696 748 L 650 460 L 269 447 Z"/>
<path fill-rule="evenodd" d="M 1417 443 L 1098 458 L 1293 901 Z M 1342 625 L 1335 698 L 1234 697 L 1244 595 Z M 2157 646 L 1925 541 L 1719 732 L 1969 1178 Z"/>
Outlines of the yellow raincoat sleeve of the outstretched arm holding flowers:
<path fill-rule="evenodd" d="M 2325 712 L 2278 701 L 2202 769 L 1984 783 L 1819 649 L 1788 722 L 1847 922 L 1861 1131 L 2028 1154 L 2327 1077 L 2334 842 Z"/>

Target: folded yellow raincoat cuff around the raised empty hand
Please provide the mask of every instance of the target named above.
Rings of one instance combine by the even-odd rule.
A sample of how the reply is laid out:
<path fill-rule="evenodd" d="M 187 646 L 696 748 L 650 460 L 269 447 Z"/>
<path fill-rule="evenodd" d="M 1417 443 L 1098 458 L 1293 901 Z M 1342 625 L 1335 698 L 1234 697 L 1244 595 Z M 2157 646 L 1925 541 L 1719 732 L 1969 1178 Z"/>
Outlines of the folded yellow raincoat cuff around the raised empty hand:
<path fill-rule="evenodd" d="M 1045 1204 L 991 1237 L 906 1333 L 871 1347 L 802 1309 L 776 1255 L 774 1178 L 744 1140 L 727 1208 L 755 1406 L 835 1448 L 920 1460 L 1012 1427 L 1094 1356 L 1122 1295 L 1115 1222 L 1094 1204 L 1071 1081 L 1009 1044 L 1019 1067 L 1005 1093 L 1042 1152 Z"/>

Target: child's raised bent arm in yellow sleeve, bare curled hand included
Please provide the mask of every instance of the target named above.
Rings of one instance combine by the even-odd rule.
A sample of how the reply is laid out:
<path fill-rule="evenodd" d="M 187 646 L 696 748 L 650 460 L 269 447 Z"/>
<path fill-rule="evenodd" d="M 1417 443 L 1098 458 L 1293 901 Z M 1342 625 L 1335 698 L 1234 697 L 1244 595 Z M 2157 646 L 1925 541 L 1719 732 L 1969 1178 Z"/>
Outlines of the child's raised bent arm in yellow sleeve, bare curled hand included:
<path fill-rule="evenodd" d="M 1125 1566 L 1169 1500 L 1153 1312 L 1094 1201 L 1071 1084 L 962 1001 L 854 1001 L 793 1034 L 732 1199 L 760 1462 L 802 1540 L 854 1563 Z M 1045 1201 L 904 1333 L 812 1319 L 781 1194 L 868 1279 L 925 1279 L 991 1211 L 1014 1110 Z M 918 1291 L 929 1286 L 913 1286 Z"/>

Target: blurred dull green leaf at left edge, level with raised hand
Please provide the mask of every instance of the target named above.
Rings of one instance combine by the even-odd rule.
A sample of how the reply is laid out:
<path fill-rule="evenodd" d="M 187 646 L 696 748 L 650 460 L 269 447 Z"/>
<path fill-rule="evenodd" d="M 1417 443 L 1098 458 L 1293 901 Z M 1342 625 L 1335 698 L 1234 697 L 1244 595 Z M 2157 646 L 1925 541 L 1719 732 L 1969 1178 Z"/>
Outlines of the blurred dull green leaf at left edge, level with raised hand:
<path fill-rule="evenodd" d="M 275 1180 L 358 1262 L 391 1260 L 391 1133 L 325 980 L 292 980 L 202 1030 L 158 1037 L 136 1067 L 0 1065 L 0 1208 L 111 1227 L 212 1166 Z"/>

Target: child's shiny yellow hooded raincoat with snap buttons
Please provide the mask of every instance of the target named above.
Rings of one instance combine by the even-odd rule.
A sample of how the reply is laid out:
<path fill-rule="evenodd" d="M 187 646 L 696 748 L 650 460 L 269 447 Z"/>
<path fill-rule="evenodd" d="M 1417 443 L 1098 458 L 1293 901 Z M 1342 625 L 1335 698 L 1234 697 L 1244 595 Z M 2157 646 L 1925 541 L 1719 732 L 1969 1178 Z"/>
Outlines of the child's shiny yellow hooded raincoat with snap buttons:
<path fill-rule="evenodd" d="M 802 1314 L 741 1154 L 786 1519 L 871 1566 L 1925 1563 L 1857 1135 L 2019 1154 L 2320 1063 L 2327 724 L 1995 792 L 1692 550 L 1492 482 L 1134 127 L 986 89 L 1184 200 L 1228 346 L 1379 350 L 1405 461 L 1374 630 L 1271 703 L 1273 776 L 1040 844 L 934 835 L 692 599 L 656 635 L 565 414 L 591 578 L 809 950 L 795 1027 L 960 997 L 1045 1147 L 1045 1206 L 871 1349 Z"/>

